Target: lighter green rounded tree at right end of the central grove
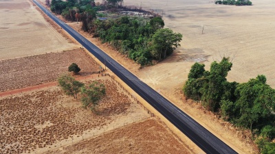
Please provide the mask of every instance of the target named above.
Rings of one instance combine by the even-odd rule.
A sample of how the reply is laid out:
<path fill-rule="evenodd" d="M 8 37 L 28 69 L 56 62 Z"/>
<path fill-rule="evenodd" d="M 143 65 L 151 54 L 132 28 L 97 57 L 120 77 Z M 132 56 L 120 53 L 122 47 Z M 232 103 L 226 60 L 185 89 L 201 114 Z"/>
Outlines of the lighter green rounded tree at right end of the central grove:
<path fill-rule="evenodd" d="M 157 29 L 152 38 L 151 55 L 156 60 L 162 60 L 167 55 L 173 53 L 181 41 L 182 35 L 179 33 L 173 33 L 171 29 Z"/>

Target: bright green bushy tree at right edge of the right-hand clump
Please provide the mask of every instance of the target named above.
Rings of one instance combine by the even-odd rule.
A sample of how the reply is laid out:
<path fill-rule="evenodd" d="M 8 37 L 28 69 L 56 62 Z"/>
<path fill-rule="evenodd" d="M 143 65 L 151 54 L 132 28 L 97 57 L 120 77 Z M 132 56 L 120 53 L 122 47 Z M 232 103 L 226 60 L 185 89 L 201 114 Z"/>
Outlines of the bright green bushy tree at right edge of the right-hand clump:
<path fill-rule="evenodd" d="M 265 82 L 265 76 L 258 75 L 256 79 L 250 79 L 248 83 L 237 86 L 234 120 L 236 125 L 252 130 L 254 124 L 262 125 L 261 122 L 273 115 L 275 90 Z"/>

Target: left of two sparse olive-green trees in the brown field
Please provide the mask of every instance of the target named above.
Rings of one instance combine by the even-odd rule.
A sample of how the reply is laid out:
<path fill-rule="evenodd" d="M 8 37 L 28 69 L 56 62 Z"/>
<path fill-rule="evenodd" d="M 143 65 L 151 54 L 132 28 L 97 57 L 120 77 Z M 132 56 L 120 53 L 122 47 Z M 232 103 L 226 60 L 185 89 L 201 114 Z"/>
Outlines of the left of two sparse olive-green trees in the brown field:
<path fill-rule="evenodd" d="M 70 75 L 61 75 L 61 77 L 58 77 L 58 86 L 61 86 L 65 94 L 77 99 L 80 88 L 84 86 L 84 84 L 80 81 L 76 81 L 76 79 Z"/>

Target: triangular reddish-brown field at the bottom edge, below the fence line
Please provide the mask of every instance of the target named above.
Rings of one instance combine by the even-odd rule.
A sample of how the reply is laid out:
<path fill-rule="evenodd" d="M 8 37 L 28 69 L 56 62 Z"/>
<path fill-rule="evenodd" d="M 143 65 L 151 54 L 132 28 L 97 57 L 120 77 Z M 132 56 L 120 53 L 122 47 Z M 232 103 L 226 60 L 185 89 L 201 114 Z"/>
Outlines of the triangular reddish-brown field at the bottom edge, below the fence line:
<path fill-rule="evenodd" d="M 133 123 L 49 153 L 189 153 L 155 118 Z"/>

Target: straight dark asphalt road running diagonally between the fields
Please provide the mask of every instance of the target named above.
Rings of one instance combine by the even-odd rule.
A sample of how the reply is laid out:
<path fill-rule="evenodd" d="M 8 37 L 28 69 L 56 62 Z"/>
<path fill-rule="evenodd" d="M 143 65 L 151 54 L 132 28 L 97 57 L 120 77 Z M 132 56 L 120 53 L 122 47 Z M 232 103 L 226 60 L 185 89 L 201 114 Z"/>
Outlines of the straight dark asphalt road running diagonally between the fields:
<path fill-rule="evenodd" d="M 210 131 L 199 125 L 195 120 L 190 118 L 187 114 L 179 110 L 178 107 L 170 103 L 167 99 L 162 97 L 159 93 L 140 81 L 135 75 L 130 73 L 126 68 L 115 62 L 109 55 L 98 49 L 94 44 L 89 42 L 86 38 L 78 34 L 74 29 L 63 23 L 54 14 L 46 10 L 40 3 L 33 0 L 36 5 L 43 10 L 50 18 L 52 18 L 58 25 L 65 29 L 72 37 L 74 37 L 80 44 L 83 45 L 90 53 L 100 60 L 103 64 L 120 77 L 129 87 L 131 87 L 144 100 L 150 103 L 155 109 L 167 118 L 170 123 L 173 123 L 180 131 L 182 131 L 192 142 L 195 142 L 199 148 L 206 153 L 236 153 L 227 144 L 219 140 Z"/>

